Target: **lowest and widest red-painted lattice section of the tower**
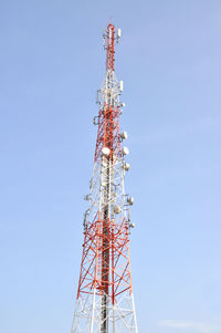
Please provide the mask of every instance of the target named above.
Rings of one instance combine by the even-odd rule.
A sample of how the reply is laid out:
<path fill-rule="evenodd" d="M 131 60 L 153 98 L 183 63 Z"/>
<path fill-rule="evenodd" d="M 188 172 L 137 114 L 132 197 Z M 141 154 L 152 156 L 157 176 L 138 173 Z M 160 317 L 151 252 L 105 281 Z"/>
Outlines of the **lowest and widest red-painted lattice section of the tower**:
<path fill-rule="evenodd" d="M 110 232 L 106 236 L 103 226 L 104 221 L 97 214 L 85 230 L 77 298 L 81 293 L 93 294 L 96 288 L 96 294 L 102 295 L 105 291 L 115 303 L 119 294 L 131 291 L 128 228 L 124 219 L 108 221 Z M 103 247 L 104 240 L 108 248 Z M 103 277 L 103 253 L 106 250 L 109 251 L 109 260 L 105 262 L 108 281 Z"/>

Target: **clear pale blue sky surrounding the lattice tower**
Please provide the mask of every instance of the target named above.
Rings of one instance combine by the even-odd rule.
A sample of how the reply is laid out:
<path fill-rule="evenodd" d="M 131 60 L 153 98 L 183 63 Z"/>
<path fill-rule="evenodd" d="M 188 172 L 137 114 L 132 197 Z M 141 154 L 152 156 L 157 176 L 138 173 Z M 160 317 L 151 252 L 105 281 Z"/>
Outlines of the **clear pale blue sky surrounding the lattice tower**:
<path fill-rule="evenodd" d="M 220 0 L 0 2 L 0 332 L 70 332 L 108 19 L 139 332 L 220 333 Z"/>

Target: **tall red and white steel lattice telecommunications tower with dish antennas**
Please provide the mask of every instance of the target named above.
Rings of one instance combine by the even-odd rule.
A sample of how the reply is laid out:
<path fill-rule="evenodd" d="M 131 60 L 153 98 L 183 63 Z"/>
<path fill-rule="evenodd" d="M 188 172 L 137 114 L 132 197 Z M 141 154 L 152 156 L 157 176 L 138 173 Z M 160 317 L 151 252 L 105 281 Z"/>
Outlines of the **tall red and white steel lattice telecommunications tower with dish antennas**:
<path fill-rule="evenodd" d="M 120 30 L 109 23 L 104 31 L 106 75 L 97 92 L 98 125 L 88 209 L 72 333 L 138 333 L 129 261 L 129 206 L 124 177 L 129 169 L 119 132 L 123 82 L 115 76 L 115 41 Z"/>

